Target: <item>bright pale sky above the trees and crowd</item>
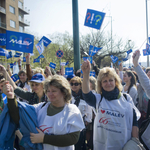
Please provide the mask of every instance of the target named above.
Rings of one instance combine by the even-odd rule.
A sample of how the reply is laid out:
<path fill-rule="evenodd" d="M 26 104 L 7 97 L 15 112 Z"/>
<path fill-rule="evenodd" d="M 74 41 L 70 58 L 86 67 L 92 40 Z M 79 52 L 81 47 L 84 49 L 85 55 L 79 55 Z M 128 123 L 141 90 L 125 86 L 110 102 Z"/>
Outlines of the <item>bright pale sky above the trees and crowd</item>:
<path fill-rule="evenodd" d="M 150 0 L 147 0 L 147 4 L 150 18 Z M 72 0 L 24 0 L 24 7 L 30 9 L 30 14 L 25 16 L 30 22 L 26 31 L 38 37 L 65 31 L 73 34 Z M 147 41 L 145 0 L 78 0 L 79 34 L 82 35 L 96 32 L 96 29 L 84 26 L 87 9 L 106 13 L 100 30 L 108 24 L 104 31 L 111 32 L 112 17 L 113 37 L 116 35 L 125 41 L 134 41 L 136 49 L 140 49 L 141 53 L 145 49 Z M 150 25 L 150 19 L 148 24 Z M 146 56 L 142 54 L 140 60 L 146 61 Z"/>

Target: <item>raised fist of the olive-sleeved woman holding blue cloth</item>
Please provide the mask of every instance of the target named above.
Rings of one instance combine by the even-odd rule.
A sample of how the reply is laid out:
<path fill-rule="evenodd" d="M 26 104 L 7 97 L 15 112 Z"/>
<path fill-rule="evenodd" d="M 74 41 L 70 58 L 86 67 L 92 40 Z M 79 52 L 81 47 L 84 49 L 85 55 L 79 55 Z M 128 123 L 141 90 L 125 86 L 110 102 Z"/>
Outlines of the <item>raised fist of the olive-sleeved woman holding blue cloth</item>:
<path fill-rule="evenodd" d="M 3 82 L 2 92 L 3 92 L 9 99 L 13 99 L 13 98 L 14 98 L 14 89 L 13 89 L 13 87 L 9 84 L 8 81 L 4 81 L 4 82 Z"/>

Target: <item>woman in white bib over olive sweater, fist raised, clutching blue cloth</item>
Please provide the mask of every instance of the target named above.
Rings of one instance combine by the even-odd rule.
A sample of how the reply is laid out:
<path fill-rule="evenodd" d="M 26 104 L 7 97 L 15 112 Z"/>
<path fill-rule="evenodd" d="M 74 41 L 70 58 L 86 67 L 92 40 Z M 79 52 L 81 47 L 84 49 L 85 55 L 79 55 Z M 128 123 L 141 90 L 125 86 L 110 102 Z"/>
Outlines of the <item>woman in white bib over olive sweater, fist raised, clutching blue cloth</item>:
<path fill-rule="evenodd" d="M 36 80 L 36 77 L 33 80 Z M 4 84 L 3 90 L 8 97 L 10 117 L 15 124 L 24 126 L 25 122 L 21 123 L 21 120 L 25 114 L 19 111 L 22 102 L 16 101 L 13 88 L 9 83 Z M 77 143 L 80 131 L 85 126 L 77 106 L 70 104 L 70 84 L 63 76 L 54 75 L 44 81 L 44 91 L 49 102 L 32 106 L 22 105 L 25 108 L 32 107 L 32 110 L 33 107 L 35 108 L 39 125 L 36 128 L 38 133 L 26 133 L 25 136 L 30 135 L 33 144 L 42 143 L 44 150 L 74 150 L 74 144 Z"/>

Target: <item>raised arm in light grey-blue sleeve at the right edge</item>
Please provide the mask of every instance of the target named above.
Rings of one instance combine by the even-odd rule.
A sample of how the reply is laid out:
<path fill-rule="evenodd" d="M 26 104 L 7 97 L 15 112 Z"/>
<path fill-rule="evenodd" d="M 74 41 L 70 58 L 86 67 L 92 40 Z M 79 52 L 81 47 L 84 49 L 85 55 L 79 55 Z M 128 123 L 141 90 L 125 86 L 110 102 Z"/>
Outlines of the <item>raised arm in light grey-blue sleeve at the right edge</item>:
<path fill-rule="evenodd" d="M 134 70 L 136 71 L 140 84 L 143 87 L 144 91 L 146 92 L 147 96 L 150 98 L 150 80 L 146 73 L 142 70 L 142 68 L 138 64 L 138 60 L 140 58 L 140 51 L 137 50 L 133 53 L 133 64 Z"/>

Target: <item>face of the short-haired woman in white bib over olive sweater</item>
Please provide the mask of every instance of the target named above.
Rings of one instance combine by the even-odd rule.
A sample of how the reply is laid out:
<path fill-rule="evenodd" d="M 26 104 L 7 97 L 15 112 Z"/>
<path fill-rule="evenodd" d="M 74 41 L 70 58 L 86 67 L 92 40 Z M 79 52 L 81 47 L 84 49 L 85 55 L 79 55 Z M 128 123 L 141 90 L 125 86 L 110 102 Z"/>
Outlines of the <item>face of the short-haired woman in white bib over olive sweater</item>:
<path fill-rule="evenodd" d="M 46 93 L 48 99 L 54 106 L 61 107 L 65 103 L 64 94 L 55 86 L 50 86 Z"/>

